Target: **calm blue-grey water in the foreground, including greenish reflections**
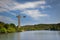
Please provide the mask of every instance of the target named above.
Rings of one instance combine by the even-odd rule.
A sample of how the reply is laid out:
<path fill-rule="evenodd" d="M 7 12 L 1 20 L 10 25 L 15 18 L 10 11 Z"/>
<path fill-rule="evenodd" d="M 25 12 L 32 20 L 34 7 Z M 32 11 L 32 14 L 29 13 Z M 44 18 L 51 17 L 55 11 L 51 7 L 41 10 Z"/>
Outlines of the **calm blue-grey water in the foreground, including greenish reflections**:
<path fill-rule="evenodd" d="M 0 40 L 60 40 L 60 31 L 26 31 L 0 34 Z"/>

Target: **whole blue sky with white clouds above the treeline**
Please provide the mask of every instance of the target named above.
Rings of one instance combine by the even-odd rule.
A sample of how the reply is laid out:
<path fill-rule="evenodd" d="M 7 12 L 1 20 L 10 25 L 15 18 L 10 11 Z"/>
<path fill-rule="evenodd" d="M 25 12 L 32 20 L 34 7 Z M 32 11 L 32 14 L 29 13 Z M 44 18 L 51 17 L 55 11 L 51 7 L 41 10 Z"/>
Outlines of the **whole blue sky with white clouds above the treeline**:
<path fill-rule="evenodd" d="M 17 15 L 21 25 L 60 23 L 60 0 L 0 0 L 0 21 L 18 25 Z"/>

